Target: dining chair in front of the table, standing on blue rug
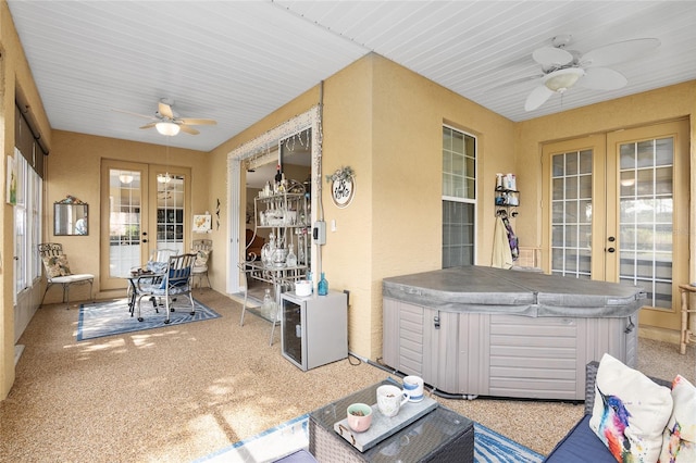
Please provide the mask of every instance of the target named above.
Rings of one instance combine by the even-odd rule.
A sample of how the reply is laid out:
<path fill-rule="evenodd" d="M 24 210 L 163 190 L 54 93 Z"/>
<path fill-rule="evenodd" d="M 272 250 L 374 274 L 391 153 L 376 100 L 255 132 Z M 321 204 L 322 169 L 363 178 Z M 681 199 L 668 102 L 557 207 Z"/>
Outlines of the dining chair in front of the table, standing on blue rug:
<path fill-rule="evenodd" d="M 196 313 L 194 297 L 191 296 L 191 276 L 196 254 L 172 255 L 161 278 L 146 278 L 144 281 L 138 279 L 136 295 L 138 297 L 138 322 L 142 322 L 141 301 L 142 298 L 162 298 L 166 312 L 165 324 L 171 322 L 170 313 L 172 301 L 178 296 L 188 296 L 191 304 L 190 314 Z"/>

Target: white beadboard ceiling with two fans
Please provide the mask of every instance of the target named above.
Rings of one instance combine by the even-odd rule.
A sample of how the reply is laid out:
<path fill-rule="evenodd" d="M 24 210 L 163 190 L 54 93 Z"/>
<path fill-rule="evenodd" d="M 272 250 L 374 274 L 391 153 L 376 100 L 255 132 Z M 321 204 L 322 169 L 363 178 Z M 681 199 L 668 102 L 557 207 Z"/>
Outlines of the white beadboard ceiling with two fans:
<path fill-rule="evenodd" d="M 512 121 L 696 78 L 694 1 L 8 0 L 55 129 L 210 151 L 373 51 Z M 620 90 L 574 87 L 525 112 L 532 52 L 570 34 L 581 53 L 642 37 L 661 46 L 612 65 Z M 518 82 L 508 86 L 505 83 Z M 200 135 L 165 139 L 161 98 Z M 117 111 L 114 111 L 117 110 Z"/>

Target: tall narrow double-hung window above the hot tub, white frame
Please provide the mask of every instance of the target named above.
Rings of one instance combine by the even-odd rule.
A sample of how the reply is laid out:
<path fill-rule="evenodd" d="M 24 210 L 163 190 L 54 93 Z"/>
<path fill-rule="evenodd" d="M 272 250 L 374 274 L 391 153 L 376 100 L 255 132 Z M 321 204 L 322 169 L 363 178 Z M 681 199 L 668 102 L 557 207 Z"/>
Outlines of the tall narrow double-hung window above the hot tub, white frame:
<path fill-rule="evenodd" d="M 473 265 L 476 138 L 443 127 L 443 268 Z"/>

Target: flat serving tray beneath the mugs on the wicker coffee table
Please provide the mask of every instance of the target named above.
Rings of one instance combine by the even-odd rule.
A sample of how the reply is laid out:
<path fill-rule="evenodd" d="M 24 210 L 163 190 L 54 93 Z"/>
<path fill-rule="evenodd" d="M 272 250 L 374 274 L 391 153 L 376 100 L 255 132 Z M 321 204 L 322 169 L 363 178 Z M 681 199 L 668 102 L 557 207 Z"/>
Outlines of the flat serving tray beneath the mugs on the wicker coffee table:
<path fill-rule="evenodd" d="M 361 452 L 373 448 L 389 436 L 403 429 L 414 421 L 421 418 L 425 414 L 437 408 L 437 402 L 430 397 L 423 398 L 420 402 L 405 403 L 399 413 L 393 417 L 386 417 L 377 408 L 372 405 L 372 424 L 370 428 L 363 433 L 356 433 L 348 426 L 348 418 L 344 418 L 334 424 L 334 430 L 341 436 L 351 446 Z"/>

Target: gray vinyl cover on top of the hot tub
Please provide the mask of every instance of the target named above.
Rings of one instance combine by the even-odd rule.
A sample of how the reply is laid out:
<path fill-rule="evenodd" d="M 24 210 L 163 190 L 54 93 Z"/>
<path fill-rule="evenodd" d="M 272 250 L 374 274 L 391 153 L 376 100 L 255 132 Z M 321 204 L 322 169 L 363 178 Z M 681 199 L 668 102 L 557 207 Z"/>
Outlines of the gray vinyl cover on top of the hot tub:
<path fill-rule="evenodd" d="M 477 265 L 385 278 L 383 296 L 448 312 L 581 318 L 626 317 L 646 298 L 637 286 Z"/>

